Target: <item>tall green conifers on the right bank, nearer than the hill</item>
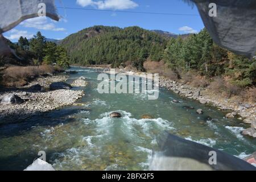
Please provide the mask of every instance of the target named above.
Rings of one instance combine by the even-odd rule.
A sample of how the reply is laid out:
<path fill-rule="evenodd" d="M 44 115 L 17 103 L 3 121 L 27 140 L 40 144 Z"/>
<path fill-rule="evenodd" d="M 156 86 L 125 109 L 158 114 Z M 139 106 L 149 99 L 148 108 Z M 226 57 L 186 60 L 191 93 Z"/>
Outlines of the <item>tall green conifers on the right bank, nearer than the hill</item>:
<path fill-rule="evenodd" d="M 204 28 L 187 39 L 171 39 L 164 51 L 164 60 L 170 68 L 188 71 L 194 69 L 202 76 L 229 76 L 232 84 L 245 87 L 255 85 L 255 60 L 234 55 L 215 44 Z"/>

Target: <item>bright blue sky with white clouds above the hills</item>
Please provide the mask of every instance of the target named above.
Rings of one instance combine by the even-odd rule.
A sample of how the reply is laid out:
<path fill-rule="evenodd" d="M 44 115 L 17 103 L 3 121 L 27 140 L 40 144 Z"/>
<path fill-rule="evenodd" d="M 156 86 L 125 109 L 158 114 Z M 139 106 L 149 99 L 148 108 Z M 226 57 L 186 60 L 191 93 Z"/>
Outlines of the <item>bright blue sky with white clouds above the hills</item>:
<path fill-rule="evenodd" d="M 55 1 L 62 17 L 55 22 L 46 17 L 29 19 L 6 32 L 4 36 L 15 42 L 19 36 L 31 38 L 37 31 L 52 39 L 63 39 L 83 28 L 104 25 L 139 26 L 147 30 L 164 30 L 175 34 L 199 32 L 204 24 L 200 16 L 133 14 L 105 11 L 71 10 L 59 7 L 75 7 L 98 10 L 143 11 L 152 13 L 197 14 L 196 7 L 181 0 L 61 0 Z"/>

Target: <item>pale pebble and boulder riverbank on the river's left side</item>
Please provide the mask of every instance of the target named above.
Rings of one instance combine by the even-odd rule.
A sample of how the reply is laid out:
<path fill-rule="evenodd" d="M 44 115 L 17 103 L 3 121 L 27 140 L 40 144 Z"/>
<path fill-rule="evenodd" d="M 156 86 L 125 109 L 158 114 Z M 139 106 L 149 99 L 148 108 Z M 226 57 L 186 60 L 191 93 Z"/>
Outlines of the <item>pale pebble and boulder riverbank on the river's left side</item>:
<path fill-rule="evenodd" d="M 1 90 L 0 98 L 6 94 L 14 94 L 24 102 L 22 104 L 1 104 L 0 124 L 23 121 L 33 115 L 74 104 L 84 96 L 84 91 L 69 89 L 49 90 L 49 85 L 53 82 L 65 82 L 67 79 L 68 76 L 61 75 L 39 76 L 26 86 Z M 38 89 L 38 85 L 42 88 L 39 87 L 40 89 Z"/>

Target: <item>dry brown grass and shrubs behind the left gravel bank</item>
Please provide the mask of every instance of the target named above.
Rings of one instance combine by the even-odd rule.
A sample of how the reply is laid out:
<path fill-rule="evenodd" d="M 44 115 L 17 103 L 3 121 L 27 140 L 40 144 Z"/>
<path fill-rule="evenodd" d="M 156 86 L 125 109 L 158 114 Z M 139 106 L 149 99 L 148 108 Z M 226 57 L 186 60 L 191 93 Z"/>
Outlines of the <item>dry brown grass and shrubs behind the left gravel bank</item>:
<path fill-rule="evenodd" d="M 5 69 L 3 75 L 3 85 L 22 86 L 32 77 L 44 75 L 46 73 L 55 73 L 59 68 L 51 65 L 40 65 L 39 67 L 9 67 Z"/>

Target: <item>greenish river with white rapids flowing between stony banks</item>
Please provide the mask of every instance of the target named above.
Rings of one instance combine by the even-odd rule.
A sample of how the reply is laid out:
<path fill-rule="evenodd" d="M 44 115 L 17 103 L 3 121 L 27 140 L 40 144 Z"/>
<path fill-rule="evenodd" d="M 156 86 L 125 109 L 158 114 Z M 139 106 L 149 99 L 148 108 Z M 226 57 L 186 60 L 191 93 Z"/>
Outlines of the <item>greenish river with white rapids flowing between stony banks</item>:
<path fill-rule="evenodd" d="M 148 100 L 146 94 L 100 94 L 97 72 L 71 70 L 78 74 L 70 75 L 68 82 L 80 76 L 88 80 L 85 96 L 78 105 L 1 126 L 1 170 L 23 170 L 39 151 L 46 151 L 47 162 L 57 170 L 145 170 L 153 152 L 160 150 L 157 139 L 164 131 L 240 158 L 255 152 L 256 140 L 240 134 L 247 126 L 226 119 L 215 107 L 165 88 L 160 88 L 158 100 Z M 113 111 L 122 118 L 110 118 Z M 141 119 L 145 114 L 154 119 Z"/>

